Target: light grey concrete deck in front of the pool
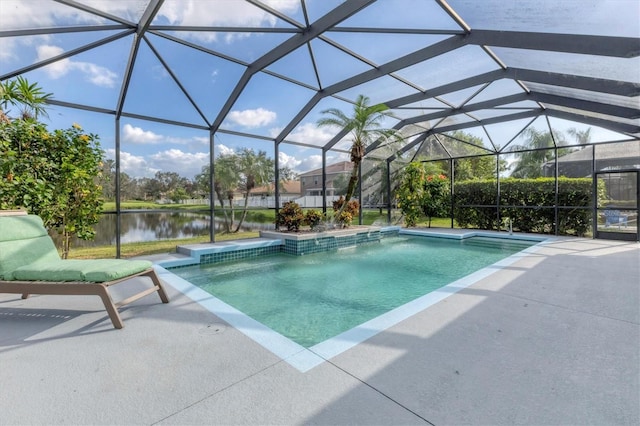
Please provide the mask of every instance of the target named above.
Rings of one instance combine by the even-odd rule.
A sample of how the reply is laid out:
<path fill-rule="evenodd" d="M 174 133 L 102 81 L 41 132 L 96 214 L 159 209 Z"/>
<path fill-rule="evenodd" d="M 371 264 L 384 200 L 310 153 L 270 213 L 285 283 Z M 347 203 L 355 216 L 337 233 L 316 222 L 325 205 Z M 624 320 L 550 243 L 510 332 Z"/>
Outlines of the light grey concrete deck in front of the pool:
<path fill-rule="evenodd" d="M 559 238 L 301 372 L 167 285 L 0 294 L 0 424 L 638 424 L 640 244 Z"/>

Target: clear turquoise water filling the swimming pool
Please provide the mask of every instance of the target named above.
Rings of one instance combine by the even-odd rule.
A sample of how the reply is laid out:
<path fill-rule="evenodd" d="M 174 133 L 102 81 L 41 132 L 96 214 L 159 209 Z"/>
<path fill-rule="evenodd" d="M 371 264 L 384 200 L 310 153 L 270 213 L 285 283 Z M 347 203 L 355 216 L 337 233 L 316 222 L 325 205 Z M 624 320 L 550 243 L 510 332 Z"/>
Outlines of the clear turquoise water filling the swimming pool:
<path fill-rule="evenodd" d="M 172 272 L 309 348 L 534 244 L 399 236 Z"/>

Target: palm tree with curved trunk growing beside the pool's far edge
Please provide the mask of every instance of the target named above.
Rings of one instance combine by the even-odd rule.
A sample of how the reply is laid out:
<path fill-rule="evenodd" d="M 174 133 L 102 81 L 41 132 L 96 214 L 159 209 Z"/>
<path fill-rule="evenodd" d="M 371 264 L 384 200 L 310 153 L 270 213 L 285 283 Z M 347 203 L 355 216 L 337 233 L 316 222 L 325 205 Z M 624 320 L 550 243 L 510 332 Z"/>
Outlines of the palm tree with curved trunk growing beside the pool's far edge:
<path fill-rule="evenodd" d="M 350 159 L 353 168 L 349 177 L 344 203 L 342 203 L 334 218 L 340 217 L 349 200 L 353 197 L 358 185 L 358 171 L 367 147 L 378 139 L 387 140 L 400 137 L 395 129 L 382 127 L 382 121 L 389 116 L 387 112 L 389 108 L 384 104 L 369 105 L 369 102 L 370 100 L 367 96 L 358 95 L 351 116 L 346 115 L 337 108 L 329 108 L 322 111 L 325 117 L 318 120 L 318 126 L 340 127 L 349 131 L 352 137 Z"/>

